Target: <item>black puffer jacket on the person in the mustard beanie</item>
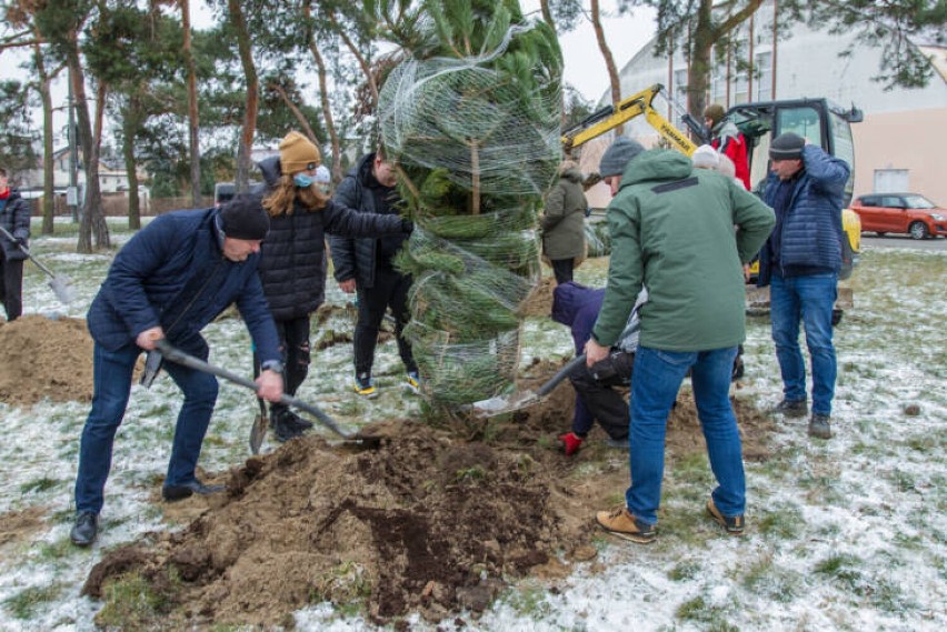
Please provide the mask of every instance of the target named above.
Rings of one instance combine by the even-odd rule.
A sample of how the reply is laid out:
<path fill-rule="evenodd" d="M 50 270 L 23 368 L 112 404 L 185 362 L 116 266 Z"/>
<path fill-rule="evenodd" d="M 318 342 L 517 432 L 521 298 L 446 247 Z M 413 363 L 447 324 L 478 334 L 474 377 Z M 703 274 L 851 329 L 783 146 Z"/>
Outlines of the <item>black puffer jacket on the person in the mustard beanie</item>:
<path fill-rule="evenodd" d="M 281 175 L 279 157 L 268 158 L 258 167 L 272 189 Z M 306 210 L 297 200 L 292 214 L 270 217 L 259 269 L 273 320 L 306 317 L 322 303 L 326 233 L 378 237 L 401 234 L 401 231 L 398 215 L 358 213 L 333 200 L 320 211 Z"/>

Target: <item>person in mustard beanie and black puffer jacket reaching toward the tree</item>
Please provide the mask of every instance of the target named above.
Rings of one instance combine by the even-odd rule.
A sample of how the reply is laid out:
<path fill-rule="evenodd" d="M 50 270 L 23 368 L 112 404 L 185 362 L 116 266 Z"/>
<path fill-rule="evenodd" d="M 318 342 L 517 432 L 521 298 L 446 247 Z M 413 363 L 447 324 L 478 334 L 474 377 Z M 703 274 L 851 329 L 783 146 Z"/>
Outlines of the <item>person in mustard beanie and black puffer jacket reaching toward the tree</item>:
<path fill-rule="evenodd" d="M 286 392 L 295 395 L 309 372 L 309 314 L 326 290 L 326 233 L 343 238 L 401 241 L 412 224 L 398 214 L 358 213 L 328 198 L 317 182 L 319 149 L 299 132 L 289 132 L 278 157 L 259 163 L 267 184 L 263 208 L 270 232 L 262 245 L 260 280 L 270 304 L 286 364 Z M 270 404 L 278 441 L 312 427 L 286 405 Z"/>

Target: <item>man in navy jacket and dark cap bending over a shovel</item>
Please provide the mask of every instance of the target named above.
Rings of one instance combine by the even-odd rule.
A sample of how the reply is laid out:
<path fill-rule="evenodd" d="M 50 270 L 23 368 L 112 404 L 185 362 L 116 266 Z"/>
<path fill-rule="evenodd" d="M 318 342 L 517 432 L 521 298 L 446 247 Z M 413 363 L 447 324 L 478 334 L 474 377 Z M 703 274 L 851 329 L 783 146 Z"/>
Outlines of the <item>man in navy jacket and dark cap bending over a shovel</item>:
<path fill-rule="evenodd" d="M 259 199 L 238 195 L 220 209 L 158 217 L 116 255 L 87 315 L 94 341 L 94 391 L 79 448 L 70 533 L 74 544 L 88 546 L 96 539 L 112 443 L 142 350 L 152 351 L 156 341 L 167 338 L 207 360 L 209 349 L 200 331 L 236 302 L 263 361 L 259 395 L 269 401 L 282 395 L 279 341 L 257 274 L 267 230 L 269 218 Z M 165 368 L 185 402 L 162 495 L 175 501 L 222 491 L 222 485 L 205 485 L 195 475 L 217 402 L 217 379 L 172 362 Z"/>

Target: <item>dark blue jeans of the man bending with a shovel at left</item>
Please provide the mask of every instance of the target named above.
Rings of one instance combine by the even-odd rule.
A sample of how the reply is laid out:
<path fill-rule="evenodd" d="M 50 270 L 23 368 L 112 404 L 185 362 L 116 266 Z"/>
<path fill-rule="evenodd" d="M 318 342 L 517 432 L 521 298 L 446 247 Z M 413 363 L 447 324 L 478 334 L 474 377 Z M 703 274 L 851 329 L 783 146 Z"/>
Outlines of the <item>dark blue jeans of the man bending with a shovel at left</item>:
<path fill-rule="evenodd" d="M 112 443 L 131 391 L 131 377 L 141 349 L 127 344 L 108 351 L 96 343 L 92 359 L 94 388 L 92 410 L 82 429 L 79 473 L 76 478 L 76 511 L 98 514 L 104 501 L 106 479 L 112 464 Z M 166 362 L 165 370 L 185 393 L 178 414 L 166 485 L 196 480 L 203 435 L 217 402 L 217 379 L 207 373 Z"/>

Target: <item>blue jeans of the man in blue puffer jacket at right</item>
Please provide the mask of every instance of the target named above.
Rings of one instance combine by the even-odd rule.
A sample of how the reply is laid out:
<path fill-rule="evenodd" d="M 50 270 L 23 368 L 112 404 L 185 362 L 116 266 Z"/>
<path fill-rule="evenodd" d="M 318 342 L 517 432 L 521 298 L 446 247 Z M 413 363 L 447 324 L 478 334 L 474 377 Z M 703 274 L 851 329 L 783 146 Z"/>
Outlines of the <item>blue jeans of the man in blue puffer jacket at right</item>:
<path fill-rule="evenodd" d="M 782 397 L 789 401 L 806 399 L 806 363 L 799 350 L 801 321 L 813 360 L 813 413 L 831 414 L 838 371 L 831 343 L 831 310 L 838 295 L 838 278 L 835 273 L 788 279 L 774 274 L 771 283 L 769 312 Z"/>

